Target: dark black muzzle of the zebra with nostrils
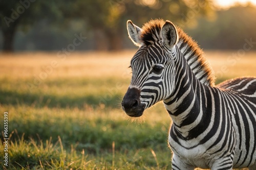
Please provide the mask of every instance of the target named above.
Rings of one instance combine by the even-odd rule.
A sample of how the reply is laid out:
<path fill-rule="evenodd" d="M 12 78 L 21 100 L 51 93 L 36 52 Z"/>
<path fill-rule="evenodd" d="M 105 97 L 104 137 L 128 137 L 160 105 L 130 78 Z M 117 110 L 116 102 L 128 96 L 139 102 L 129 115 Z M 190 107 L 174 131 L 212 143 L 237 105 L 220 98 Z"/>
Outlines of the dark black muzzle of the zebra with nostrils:
<path fill-rule="evenodd" d="M 122 109 L 131 117 L 139 117 L 145 110 L 145 104 L 140 103 L 140 90 L 129 88 L 122 101 Z"/>

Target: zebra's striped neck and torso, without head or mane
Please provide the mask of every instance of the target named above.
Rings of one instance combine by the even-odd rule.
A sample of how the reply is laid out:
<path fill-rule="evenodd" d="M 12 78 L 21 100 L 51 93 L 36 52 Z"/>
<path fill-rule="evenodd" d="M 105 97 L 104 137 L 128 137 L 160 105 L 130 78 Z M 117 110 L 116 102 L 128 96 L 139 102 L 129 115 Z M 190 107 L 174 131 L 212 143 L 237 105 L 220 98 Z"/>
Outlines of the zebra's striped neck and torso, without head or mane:
<path fill-rule="evenodd" d="M 184 58 L 180 62 L 186 64 Z M 168 138 L 174 152 L 173 169 L 231 169 L 255 164 L 256 96 L 243 93 L 247 92 L 243 88 L 249 84 L 248 88 L 256 92 L 256 79 L 235 79 L 210 87 L 181 63 L 182 71 L 176 78 L 179 86 L 164 100 L 173 120 Z"/>

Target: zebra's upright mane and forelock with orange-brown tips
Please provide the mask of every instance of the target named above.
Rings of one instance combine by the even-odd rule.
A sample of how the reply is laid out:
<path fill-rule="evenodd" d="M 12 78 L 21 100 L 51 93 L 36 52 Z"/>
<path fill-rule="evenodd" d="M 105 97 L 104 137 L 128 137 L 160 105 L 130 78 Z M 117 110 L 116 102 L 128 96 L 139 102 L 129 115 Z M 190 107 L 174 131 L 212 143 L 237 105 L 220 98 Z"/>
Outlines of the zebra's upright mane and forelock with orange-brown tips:
<path fill-rule="evenodd" d="M 161 28 L 164 23 L 165 21 L 162 19 L 150 20 L 145 23 L 141 29 L 140 40 L 146 46 L 151 45 L 155 41 L 159 41 L 161 38 Z M 181 28 L 176 27 L 176 29 L 179 35 L 177 46 L 180 48 L 191 70 L 201 83 L 214 86 L 214 71 L 206 60 L 204 52 L 197 42 L 184 33 Z"/>

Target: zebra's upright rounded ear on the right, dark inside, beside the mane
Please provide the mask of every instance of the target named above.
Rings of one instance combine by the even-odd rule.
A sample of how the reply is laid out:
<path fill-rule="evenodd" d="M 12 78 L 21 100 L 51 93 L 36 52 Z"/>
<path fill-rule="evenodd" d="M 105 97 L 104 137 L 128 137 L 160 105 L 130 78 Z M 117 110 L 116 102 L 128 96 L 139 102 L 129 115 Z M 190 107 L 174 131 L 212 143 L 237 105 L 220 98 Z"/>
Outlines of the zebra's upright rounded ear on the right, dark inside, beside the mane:
<path fill-rule="evenodd" d="M 173 22 L 166 20 L 163 27 L 161 28 L 161 36 L 163 43 L 168 47 L 172 48 L 178 41 L 178 33 Z"/>

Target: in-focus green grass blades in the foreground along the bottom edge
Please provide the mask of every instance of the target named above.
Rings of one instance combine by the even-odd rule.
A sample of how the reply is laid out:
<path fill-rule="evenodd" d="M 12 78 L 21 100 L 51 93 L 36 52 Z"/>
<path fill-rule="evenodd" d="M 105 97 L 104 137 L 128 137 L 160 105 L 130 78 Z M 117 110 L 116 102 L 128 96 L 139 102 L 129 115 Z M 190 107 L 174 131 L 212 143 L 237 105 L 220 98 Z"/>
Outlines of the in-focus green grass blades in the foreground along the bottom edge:
<path fill-rule="evenodd" d="M 25 140 L 22 136 L 11 142 L 10 169 L 166 169 L 167 165 L 160 167 L 167 156 L 152 149 L 116 151 L 113 142 L 111 151 L 102 151 L 97 156 L 86 151 L 78 151 L 77 145 L 64 148 L 60 137 L 55 143 L 46 140 L 36 142 L 34 139 Z M 2 147 L 2 146 L 1 146 Z M 158 157 L 154 157 L 152 154 Z M 157 160 L 160 159 L 159 161 Z M 15 163 L 14 163 L 15 162 Z"/>

